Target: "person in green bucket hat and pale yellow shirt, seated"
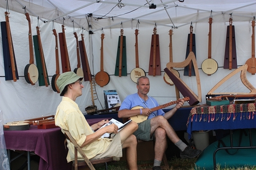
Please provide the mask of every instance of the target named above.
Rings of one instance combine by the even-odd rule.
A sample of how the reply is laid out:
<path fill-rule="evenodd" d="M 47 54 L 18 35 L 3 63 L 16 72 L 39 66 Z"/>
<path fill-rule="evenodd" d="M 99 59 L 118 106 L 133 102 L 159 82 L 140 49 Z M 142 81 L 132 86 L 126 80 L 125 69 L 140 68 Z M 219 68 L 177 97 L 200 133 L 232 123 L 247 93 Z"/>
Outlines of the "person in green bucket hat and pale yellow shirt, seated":
<path fill-rule="evenodd" d="M 127 148 L 126 156 L 129 169 L 138 170 L 137 139 L 135 135 L 132 135 L 138 129 L 137 123 L 130 122 L 120 132 L 115 124 L 97 130 L 108 123 L 108 120 L 102 120 L 90 126 L 75 103 L 76 98 L 82 95 L 84 87 L 82 79 L 83 77 L 74 72 L 65 72 L 58 77 L 56 83 L 63 98 L 56 111 L 55 124 L 61 129 L 69 131 L 88 159 L 113 157 L 114 160 L 119 160 L 122 157 L 122 149 Z M 101 138 L 105 133 L 115 133 L 116 135 L 113 138 Z M 74 145 L 69 140 L 67 142 L 69 149 L 67 161 L 70 162 L 74 160 Z M 80 154 L 78 154 L 78 159 L 83 160 Z"/>

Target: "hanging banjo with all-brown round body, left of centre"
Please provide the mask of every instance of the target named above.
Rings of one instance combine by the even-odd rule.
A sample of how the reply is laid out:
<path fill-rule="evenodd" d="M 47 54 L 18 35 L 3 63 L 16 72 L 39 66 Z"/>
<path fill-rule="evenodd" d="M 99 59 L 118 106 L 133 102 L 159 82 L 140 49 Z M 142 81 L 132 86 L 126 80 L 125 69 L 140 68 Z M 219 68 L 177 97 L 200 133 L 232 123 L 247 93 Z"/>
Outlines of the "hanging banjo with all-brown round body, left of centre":
<path fill-rule="evenodd" d="M 100 86 L 103 87 L 107 85 L 110 81 L 110 76 L 107 72 L 104 72 L 103 66 L 103 39 L 104 34 L 101 34 L 101 48 L 100 48 L 100 72 L 95 75 L 95 82 Z"/>

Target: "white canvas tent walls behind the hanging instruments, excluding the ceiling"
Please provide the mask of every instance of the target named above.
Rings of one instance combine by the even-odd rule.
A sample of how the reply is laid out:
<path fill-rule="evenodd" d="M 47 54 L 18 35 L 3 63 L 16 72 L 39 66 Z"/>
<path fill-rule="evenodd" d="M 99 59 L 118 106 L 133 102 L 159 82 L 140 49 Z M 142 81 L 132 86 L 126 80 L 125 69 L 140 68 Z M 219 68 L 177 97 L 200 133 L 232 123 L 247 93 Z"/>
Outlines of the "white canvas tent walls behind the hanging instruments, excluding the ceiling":
<path fill-rule="evenodd" d="M 5 21 L 4 12 L 6 9 L 0 8 L 0 21 Z M 3 48 L 2 41 L 0 42 L 0 110 L 3 111 L 3 119 L 5 122 L 11 122 L 14 120 L 25 120 L 34 117 L 47 116 L 55 114 L 55 110 L 61 101 L 61 97 L 58 93 L 52 90 L 51 85 L 48 87 L 36 85 L 30 85 L 25 81 L 24 68 L 29 63 L 29 46 L 28 46 L 28 21 L 25 18 L 24 13 L 17 13 L 10 11 L 10 26 L 12 39 L 14 44 L 14 52 L 17 62 L 17 69 L 19 73 L 19 80 L 13 82 L 12 80 L 5 80 L 4 63 L 3 63 Z M 30 16 L 31 17 L 31 16 Z M 195 20 L 196 16 L 189 16 L 191 20 Z M 233 16 L 233 25 L 235 26 L 236 43 L 237 43 L 237 64 L 239 66 L 245 64 L 245 62 L 251 57 L 251 34 L 252 18 L 238 19 L 238 16 Z M 196 59 L 200 73 L 201 89 L 202 89 L 202 102 L 205 103 L 205 95 L 212 89 L 212 87 L 223 79 L 227 74 L 234 71 L 223 69 L 225 43 L 226 43 L 226 29 L 229 15 L 219 15 L 213 17 L 212 22 L 212 58 L 215 59 L 220 68 L 218 68 L 215 74 L 207 76 L 201 70 L 201 63 L 208 57 L 208 32 L 209 23 L 208 19 L 193 23 L 193 33 L 195 33 L 196 41 Z M 237 19 L 237 21 L 236 21 Z M 33 17 L 32 21 L 32 34 L 36 35 L 37 18 Z M 66 19 L 65 22 L 72 22 Z M 158 21 L 152 21 L 157 24 Z M 159 21 L 160 22 L 160 21 Z M 179 25 L 186 23 L 180 19 Z M 47 72 L 49 80 L 51 82 L 52 75 L 55 74 L 55 37 L 52 35 L 52 22 L 44 24 L 40 23 L 40 35 L 41 42 L 44 50 L 44 57 L 47 66 Z M 94 25 L 101 25 L 100 21 L 92 21 L 92 29 Z M 123 23 L 124 36 L 127 39 L 127 76 L 114 76 L 116 65 L 116 53 L 118 46 L 118 36 L 120 35 L 121 25 L 117 25 L 114 28 L 104 29 L 104 71 L 110 74 L 110 82 L 103 88 L 96 86 L 96 92 L 98 100 L 95 101 L 98 109 L 105 107 L 103 90 L 116 89 L 120 96 L 121 102 L 124 98 L 132 93 L 137 92 L 136 84 L 132 82 L 129 77 L 129 73 L 135 68 L 135 29 L 137 20 L 128 21 Z M 68 24 L 67 24 L 68 25 Z M 72 25 L 72 24 L 71 24 Z M 110 24 L 111 25 L 111 21 Z M 76 26 L 75 26 L 76 27 Z M 85 26 L 86 27 L 86 26 Z M 57 32 L 61 32 L 61 24 L 55 23 L 55 29 Z M 140 68 L 145 72 L 149 71 L 149 57 L 151 46 L 151 35 L 153 34 L 154 24 L 148 24 L 140 21 L 139 35 L 138 35 L 138 47 L 139 47 L 139 64 Z M 157 99 L 159 104 L 165 104 L 171 100 L 176 100 L 175 86 L 166 84 L 163 80 L 163 69 L 169 62 L 169 30 L 171 27 L 164 27 L 157 25 L 157 34 L 159 34 L 160 40 L 160 60 L 161 60 L 161 76 L 148 76 L 151 83 L 150 96 Z M 79 40 L 81 40 L 80 34 L 81 28 L 75 29 Z M 66 42 L 69 51 L 69 60 L 71 69 L 77 67 L 77 55 L 76 55 L 76 42 L 73 35 L 73 27 L 66 27 Z M 190 33 L 190 25 L 185 25 L 177 29 L 173 29 L 173 62 L 181 62 L 185 60 L 186 48 L 187 48 L 187 35 Z M 101 48 L 101 34 L 102 31 L 96 31 L 91 35 L 92 50 L 89 48 L 89 35 L 85 34 L 85 46 L 87 50 L 88 59 L 90 62 L 90 68 L 92 74 L 96 74 L 100 71 L 100 48 Z M 58 42 L 59 43 L 59 42 Z M 59 52 L 60 56 L 60 52 Z M 61 61 L 61 59 L 60 59 Z M 61 69 L 61 66 L 60 66 Z M 62 70 L 61 70 L 62 72 Z M 197 85 L 195 77 L 183 76 L 184 70 L 179 70 L 182 80 L 186 82 L 189 87 L 197 94 Z M 146 73 L 148 75 L 148 73 Z M 239 77 L 237 77 L 239 79 Z M 255 75 L 247 73 L 249 82 L 256 87 Z M 239 84 L 239 81 L 228 81 L 229 84 L 237 84 L 237 90 L 235 92 L 246 91 L 246 88 Z M 79 105 L 82 112 L 85 112 L 85 107 L 92 104 L 90 83 L 83 82 L 83 96 L 77 98 L 76 102 Z M 227 85 L 228 86 L 228 85 Z M 231 86 L 230 86 L 231 87 Z M 188 105 L 188 104 L 186 104 Z M 173 107 L 173 106 L 172 106 Z"/>

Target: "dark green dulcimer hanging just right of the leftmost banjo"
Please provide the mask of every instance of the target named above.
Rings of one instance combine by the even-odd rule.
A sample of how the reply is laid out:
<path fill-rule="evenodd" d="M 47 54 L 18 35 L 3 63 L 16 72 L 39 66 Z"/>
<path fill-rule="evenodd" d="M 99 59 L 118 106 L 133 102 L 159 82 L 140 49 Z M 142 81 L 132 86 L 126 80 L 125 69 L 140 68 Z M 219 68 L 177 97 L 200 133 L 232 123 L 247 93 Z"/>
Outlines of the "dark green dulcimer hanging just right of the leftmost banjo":
<path fill-rule="evenodd" d="M 46 64 L 44 60 L 44 52 L 41 43 L 40 30 L 38 26 L 36 27 L 36 33 L 37 35 L 33 36 L 33 40 L 36 54 L 36 65 L 38 67 L 39 72 L 39 86 L 45 85 L 47 87 L 48 85 L 50 85 L 50 82 L 47 74 Z"/>

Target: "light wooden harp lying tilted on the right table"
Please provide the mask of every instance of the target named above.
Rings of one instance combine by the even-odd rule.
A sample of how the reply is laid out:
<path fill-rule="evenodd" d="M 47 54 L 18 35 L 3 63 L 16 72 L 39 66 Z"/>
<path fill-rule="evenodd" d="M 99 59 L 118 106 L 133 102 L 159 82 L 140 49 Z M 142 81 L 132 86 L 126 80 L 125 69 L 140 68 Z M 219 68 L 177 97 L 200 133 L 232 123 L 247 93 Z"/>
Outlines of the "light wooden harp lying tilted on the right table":
<path fill-rule="evenodd" d="M 246 72 L 247 72 L 247 68 L 248 65 L 245 64 L 243 66 L 240 66 L 238 69 L 235 69 L 233 72 L 229 73 L 226 77 L 224 77 L 222 80 L 220 80 L 220 82 L 218 82 L 207 94 L 208 95 L 220 95 L 220 94 L 234 94 L 234 92 L 221 92 L 221 93 L 214 93 L 215 90 L 217 88 L 220 88 L 220 85 L 223 85 L 224 82 L 226 82 L 226 80 L 231 79 L 231 77 L 233 77 L 235 74 L 240 73 L 240 79 L 242 81 L 242 84 L 245 85 L 246 88 L 248 88 L 248 90 L 250 91 L 249 93 L 237 93 L 236 94 L 255 94 L 256 93 L 256 89 L 253 87 L 252 84 L 250 84 L 250 82 L 247 80 L 246 78 Z M 235 84 L 235 83 L 234 83 Z"/>

